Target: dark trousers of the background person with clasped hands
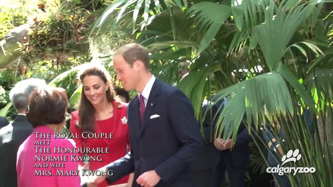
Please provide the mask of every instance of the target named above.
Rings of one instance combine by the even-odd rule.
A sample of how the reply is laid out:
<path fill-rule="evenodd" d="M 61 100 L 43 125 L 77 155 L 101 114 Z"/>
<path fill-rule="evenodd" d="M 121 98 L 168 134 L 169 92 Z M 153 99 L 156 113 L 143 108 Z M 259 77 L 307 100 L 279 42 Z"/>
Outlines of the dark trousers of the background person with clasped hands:
<path fill-rule="evenodd" d="M 245 171 L 246 166 L 235 168 L 225 163 L 224 159 L 220 159 L 218 165 L 213 169 L 213 186 L 221 187 L 224 183 L 225 172 L 228 173 L 228 187 L 246 187 Z"/>

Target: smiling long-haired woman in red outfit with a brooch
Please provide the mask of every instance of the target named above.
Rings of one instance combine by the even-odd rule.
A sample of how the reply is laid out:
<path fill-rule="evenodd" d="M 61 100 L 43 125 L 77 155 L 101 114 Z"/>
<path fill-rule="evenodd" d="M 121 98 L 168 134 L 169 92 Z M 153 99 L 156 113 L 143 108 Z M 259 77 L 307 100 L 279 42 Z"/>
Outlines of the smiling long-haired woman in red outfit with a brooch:
<path fill-rule="evenodd" d="M 77 147 L 104 149 L 104 153 L 80 154 L 87 161 L 89 171 L 95 171 L 127 154 L 127 104 L 116 97 L 110 75 L 102 65 L 89 66 L 79 76 L 83 84 L 81 101 L 79 110 L 71 113 L 70 131 L 77 136 L 74 138 Z M 132 185 L 129 176 L 112 185 L 125 183 Z M 98 187 L 107 186 L 104 181 Z"/>

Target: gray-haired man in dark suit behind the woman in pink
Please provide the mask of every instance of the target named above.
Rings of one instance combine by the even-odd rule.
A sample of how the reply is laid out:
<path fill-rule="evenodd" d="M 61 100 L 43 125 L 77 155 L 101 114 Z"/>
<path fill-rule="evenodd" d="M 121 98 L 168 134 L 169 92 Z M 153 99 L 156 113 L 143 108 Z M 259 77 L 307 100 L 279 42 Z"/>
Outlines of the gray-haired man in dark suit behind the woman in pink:
<path fill-rule="evenodd" d="M 18 147 L 33 133 L 33 126 L 25 115 L 30 94 L 38 86 L 46 86 L 45 80 L 29 78 L 18 82 L 9 93 L 17 116 L 0 129 L 0 187 L 17 187 L 16 158 Z"/>

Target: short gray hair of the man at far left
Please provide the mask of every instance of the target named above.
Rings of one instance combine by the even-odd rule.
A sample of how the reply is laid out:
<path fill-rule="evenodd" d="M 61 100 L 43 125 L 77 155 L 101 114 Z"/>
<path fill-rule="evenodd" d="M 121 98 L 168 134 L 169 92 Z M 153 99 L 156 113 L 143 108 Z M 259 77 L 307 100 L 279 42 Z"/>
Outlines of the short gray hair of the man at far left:
<path fill-rule="evenodd" d="M 26 108 L 30 95 L 34 89 L 40 86 L 47 86 L 45 80 L 39 78 L 28 78 L 19 81 L 9 93 L 9 99 L 12 101 L 17 112 Z"/>

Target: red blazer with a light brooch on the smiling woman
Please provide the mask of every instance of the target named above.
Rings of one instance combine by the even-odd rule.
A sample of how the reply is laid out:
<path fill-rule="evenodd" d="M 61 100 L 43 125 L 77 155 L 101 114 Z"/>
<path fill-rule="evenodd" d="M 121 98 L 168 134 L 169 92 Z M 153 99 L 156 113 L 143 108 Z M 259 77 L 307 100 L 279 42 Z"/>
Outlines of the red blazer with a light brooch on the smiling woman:
<path fill-rule="evenodd" d="M 87 156 L 93 157 L 101 157 L 101 161 L 89 161 L 89 170 L 94 171 L 98 170 L 101 167 L 116 161 L 117 159 L 125 156 L 127 154 L 127 146 L 129 147 L 129 128 L 127 124 L 127 104 L 118 103 L 113 101 L 114 106 L 114 115 L 112 118 L 106 120 L 95 120 L 95 132 L 99 133 L 113 133 L 113 139 L 83 139 L 82 133 L 83 129 L 78 128 L 77 124 L 79 122 L 79 111 L 73 111 L 71 113 L 70 120 L 70 132 L 74 135 L 78 136 L 78 139 L 73 139 L 76 143 L 77 147 L 89 147 L 89 148 L 109 148 L 108 154 L 100 154 L 100 153 L 90 153 Z M 83 134 L 86 137 L 86 134 Z M 84 156 L 84 154 L 80 154 L 80 156 Z M 81 162 L 81 164 L 83 164 Z M 128 176 L 123 177 L 116 184 L 127 183 Z M 107 184 L 105 182 L 103 185 L 99 185 L 99 187 L 106 187 Z"/>

